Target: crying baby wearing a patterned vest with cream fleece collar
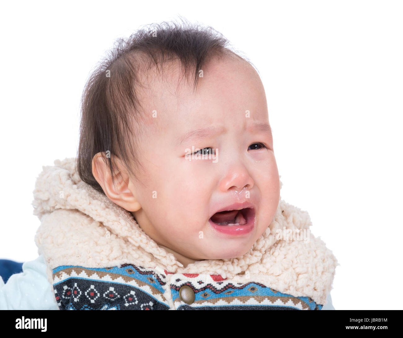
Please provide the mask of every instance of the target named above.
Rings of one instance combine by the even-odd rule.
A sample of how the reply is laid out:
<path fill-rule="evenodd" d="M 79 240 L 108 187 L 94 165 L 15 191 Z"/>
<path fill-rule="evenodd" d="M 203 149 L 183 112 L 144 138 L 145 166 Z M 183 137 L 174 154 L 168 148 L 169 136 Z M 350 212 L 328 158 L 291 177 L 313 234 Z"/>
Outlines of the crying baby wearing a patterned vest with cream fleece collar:
<path fill-rule="evenodd" d="M 214 29 L 120 40 L 85 87 L 77 159 L 34 197 L 49 308 L 332 309 L 338 263 L 280 199 L 262 81 Z"/>

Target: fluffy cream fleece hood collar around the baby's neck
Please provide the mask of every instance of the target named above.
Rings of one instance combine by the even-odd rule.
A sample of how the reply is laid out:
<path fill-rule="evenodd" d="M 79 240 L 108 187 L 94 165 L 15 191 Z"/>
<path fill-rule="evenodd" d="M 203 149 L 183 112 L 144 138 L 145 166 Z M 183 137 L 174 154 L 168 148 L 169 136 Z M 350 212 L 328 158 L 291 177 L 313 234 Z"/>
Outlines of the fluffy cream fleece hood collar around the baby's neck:
<path fill-rule="evenodd" d="M 265 283 L 293 296 L 326 304 L 339 263 L 320 237 L 310 242 L 276 240 L 277 229 L 309 229 L 306 211 L 279 201 L 268 229 L 242 257 L 204 260 L 186 268 L 143 232 L 133 215 L 82 182 L 75 159 L 43 167 L 33 192 L 34 215 L 41 220 L 35 242 L 51 269 L 60 265 L 111 267 L 131 263 L 172 273 L 217 274 L 237 282 Z M 280 187 L 282 183 L 280 182 Z"/>

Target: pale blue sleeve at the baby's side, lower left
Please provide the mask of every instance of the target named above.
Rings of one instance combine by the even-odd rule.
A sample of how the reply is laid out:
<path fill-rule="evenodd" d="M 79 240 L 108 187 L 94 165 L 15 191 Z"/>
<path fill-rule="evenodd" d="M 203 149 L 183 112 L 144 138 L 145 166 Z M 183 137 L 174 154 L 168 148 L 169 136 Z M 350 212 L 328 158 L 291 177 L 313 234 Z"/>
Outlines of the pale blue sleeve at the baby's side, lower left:
<path fill-rule="evenodd" d="M 0 276 L 0 310 L 58 310 L 42 256 L 25 262 L 6 284 Z"/>

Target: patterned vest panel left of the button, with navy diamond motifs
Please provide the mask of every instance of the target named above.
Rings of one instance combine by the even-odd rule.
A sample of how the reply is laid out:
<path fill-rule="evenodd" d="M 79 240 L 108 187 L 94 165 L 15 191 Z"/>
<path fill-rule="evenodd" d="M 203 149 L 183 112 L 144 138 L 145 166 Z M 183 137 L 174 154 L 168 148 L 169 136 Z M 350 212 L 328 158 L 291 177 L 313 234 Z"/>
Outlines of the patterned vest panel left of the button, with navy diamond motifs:
<path fill-rule="evenodd" d="M 127 264 L 53 269 L 53 288 L 61 310 L 167 310 L 164 279 L 153 270 Z"/>

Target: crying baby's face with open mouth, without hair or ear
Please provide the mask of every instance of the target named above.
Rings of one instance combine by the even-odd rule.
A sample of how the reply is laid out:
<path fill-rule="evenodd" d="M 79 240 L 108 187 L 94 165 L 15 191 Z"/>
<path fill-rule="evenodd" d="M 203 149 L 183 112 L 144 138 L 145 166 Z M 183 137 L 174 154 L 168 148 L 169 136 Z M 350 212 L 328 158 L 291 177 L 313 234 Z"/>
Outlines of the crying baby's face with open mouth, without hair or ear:
<path fill-rule="evenodd" d="M 131 183 L 141 204 L 133 215 L 172 253 L 191 260 L 229 259 L 248 252 L 267 229 L 280 184 L 259 75 L 233 58 L 202 70 L 194 94 L 184 78 L 176 92 L 181 73 L 173 70 L 143 91 L 150 117 L 138 155 L 147 173 L 144 186 Z M 204 148 L 213 150 L 191 156 Z M 243 210 L 213 216 L 235 209 Z"/>

